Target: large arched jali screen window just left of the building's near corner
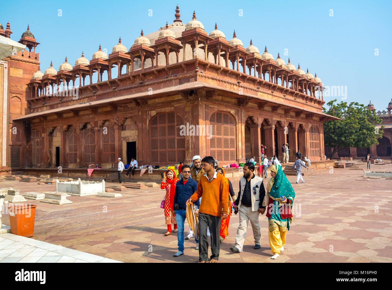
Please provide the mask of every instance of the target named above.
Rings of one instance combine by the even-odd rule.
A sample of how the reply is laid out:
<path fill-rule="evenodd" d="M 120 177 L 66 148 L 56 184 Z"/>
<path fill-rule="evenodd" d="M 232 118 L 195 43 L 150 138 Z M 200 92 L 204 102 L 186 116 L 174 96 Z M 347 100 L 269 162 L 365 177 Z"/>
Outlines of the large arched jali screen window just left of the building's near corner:
<path fill-rule="evenodd" d="M 160 113 L 150 121 L 151 163 L 167 165 L 185 159 L 185 136 L 180 135 L 183 118 L 174 112 Z"/>

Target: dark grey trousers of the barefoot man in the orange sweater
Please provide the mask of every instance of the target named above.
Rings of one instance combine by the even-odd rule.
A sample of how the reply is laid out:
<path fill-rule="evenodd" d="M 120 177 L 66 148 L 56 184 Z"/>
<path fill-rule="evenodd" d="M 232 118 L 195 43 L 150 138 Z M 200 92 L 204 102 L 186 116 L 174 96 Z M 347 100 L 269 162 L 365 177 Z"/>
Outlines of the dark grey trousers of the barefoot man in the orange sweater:
<path fill-rule="evenodd" d="M 214 217 L 205 213 L 199 213 L 199 261 L 208 259 L 208 237 L 207 227 L 210 228 L 211 234 L 211 257 L 210 259 L 219 259 L 220 251 L 220 232 L 221 217 Z"/>

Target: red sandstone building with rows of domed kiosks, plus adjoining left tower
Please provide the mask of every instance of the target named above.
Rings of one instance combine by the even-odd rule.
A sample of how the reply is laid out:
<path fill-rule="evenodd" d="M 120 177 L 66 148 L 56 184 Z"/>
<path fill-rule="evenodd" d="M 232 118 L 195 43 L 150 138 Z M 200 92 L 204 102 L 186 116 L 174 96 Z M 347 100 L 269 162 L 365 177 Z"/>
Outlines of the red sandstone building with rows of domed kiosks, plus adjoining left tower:
<path fill-rule="evenodd" d="M 91 60 L 82 53 L 74 66 L 65 58 L 44 73 L 27 29 L 20 42 L 29 51 L 0 62 L 9 87 L 2 166 L 117 168 L 118 157 L 132 156 L 162 166 L 196 154 L 225 165 L 252 155 L 259 162 L 261 144 L 281 156 L 283 143 L 290 160 L 298 149 L 324 160 L 323 122 L 336 118 L 322 113 L 321 79 L 266 47 L 260 54 L 252 40 L 245 47 L 235 32 L 230 40 L 217 26 L 207 34 L 195 13 L 185 25 L 179 12 L 129 50 L 120 39 L 109 55 L 100 47 Z M 183 136 L 181 125 L 211 131 Z"/>

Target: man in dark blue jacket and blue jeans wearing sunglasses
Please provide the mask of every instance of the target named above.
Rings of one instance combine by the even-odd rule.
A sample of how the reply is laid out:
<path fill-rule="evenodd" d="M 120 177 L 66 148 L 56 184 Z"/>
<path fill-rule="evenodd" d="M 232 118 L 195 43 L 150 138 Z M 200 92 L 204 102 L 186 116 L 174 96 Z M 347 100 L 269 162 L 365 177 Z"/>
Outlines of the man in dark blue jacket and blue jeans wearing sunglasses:
<path fill-rule="evenodd" d="M 183 255 L 184 253 L 184 222 L 187 218 L 187 200 L 193 195 L 193 193 L 197 190 L 197 182 L 196 180 L 190 178 L 191 176 L 191 168 L 189 165 L 182 165 L 181 167 L 182 178 L 178 180 L 176 184 L 176 193 L 174 194 L 174 205 L 178 204 L 178 208 L 176 209 L 176 220 L 177 220 L 177 240 L 178 240 L 178 252 L 173 255 L 173 257 L 178 257 Z M 196 216 L 199 211 L 199 200 L 196 200 L 194 203 Z M 196 250 L 199 249 L 199 240 L 196 239 Z"/>

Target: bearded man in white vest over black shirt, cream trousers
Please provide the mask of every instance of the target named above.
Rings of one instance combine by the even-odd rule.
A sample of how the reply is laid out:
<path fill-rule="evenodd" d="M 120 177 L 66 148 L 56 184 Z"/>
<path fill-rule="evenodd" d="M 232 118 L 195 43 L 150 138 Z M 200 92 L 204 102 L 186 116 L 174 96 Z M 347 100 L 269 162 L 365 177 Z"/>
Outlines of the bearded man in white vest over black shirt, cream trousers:
<path fill-rule="evenodd" d="M 265 212 L 265 206 L 263 206 L 265 196 L 263 178 L 254 174 L 254 164 L 250 162 L 245 163 L 243 166 L 243 174 L 243 177 L 240 179 L 238 198 L 234 202 L 234 213 L 237 211 L 240 212 L 240 226 L 237 229 L 236 246 L 230 248 L 234 253 L 240 253 L 242 251 L 249 221 L 253 230 L 254 249 L 261 248 L 259 215 L 260 213 L 263 215 Z"/>

